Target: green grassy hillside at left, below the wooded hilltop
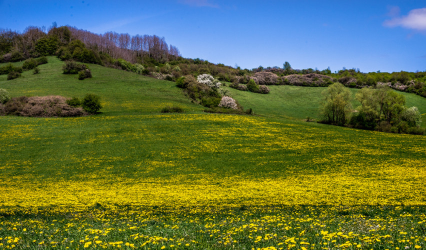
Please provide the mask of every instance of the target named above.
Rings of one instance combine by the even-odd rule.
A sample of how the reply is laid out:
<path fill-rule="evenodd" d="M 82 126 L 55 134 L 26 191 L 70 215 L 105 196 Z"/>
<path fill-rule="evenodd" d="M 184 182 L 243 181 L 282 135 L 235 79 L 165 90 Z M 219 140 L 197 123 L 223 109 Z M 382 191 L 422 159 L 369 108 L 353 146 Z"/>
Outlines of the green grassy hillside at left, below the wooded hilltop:
<path fill-rule="evenodd" d="M 108 115 L 159 112 L 165 105 L 179 105 L 187 111 L 202 110 L 170 81 L 96 64 L 87 64 L 92 78 L 78 80 L 77 75 L 62 74 L 62 64 L 64 62 L 50 56 L 47 64 L 38 66 L 39 74 L 33 75 L 32 70 L 24 71 L 21 77 L 8 81 L 6 75 L 0 75 L 0 87 L 7 89 L 12 96 L 57 94 L 83 97 L 86 93 L 95 93 L 102 98 L 104 108 L 101 111 Z"/>

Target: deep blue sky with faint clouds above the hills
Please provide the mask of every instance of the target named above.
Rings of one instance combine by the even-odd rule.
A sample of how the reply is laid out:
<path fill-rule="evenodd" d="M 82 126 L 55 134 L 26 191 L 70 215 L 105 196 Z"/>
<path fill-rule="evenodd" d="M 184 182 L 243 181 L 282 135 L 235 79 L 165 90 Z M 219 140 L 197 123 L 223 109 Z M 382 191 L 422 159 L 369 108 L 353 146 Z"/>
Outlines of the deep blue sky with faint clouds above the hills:
<path fill-rule="evenodd" d="M 259 65 L 426 71 L 425 0 L 0 0 L 0 27 L 53 21 L 156 34 L 183 57 Z"/>

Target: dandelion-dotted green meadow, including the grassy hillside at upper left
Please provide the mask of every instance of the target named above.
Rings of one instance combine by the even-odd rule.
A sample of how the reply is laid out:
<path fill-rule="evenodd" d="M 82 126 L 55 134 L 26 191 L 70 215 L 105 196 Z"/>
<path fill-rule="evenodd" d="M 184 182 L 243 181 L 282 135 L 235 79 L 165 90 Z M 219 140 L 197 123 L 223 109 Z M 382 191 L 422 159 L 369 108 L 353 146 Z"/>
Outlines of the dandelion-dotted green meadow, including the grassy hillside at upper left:
<path fill-rule="evenodd" d="M 0 87 L 100 92 L 103 113 L 0 116 L 0 248 L 426 248 L 426 137 L 203 113 L 172 83 L 60 63 Z"/>

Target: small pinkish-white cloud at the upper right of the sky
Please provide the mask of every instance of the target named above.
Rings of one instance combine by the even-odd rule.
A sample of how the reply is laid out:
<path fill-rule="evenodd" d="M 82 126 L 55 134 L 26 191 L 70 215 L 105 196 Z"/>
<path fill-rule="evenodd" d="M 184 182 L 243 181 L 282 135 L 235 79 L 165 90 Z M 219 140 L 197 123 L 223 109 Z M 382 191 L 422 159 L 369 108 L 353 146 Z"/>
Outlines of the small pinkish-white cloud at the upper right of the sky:
<path fill-rule="evenodd" d="M 426 8 L 412 9 L 407 15 L 385 20 L 383 25 L 387 27 L 401 26 L 404 28 L 426 31 Z"/>

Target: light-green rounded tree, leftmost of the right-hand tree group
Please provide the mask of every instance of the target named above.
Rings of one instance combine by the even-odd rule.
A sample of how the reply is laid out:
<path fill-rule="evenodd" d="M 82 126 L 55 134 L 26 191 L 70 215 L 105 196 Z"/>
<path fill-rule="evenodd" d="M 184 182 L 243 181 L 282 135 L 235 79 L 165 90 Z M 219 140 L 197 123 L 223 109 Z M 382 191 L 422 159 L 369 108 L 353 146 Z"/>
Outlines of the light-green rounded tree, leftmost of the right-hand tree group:
<path fill-rule="evenodd" d="M 322 91 L 320 112 L 324 121 L 334 125 L 344 125 L 352 111 L 350 91 L 341 83 L 336 82 Z"/>

